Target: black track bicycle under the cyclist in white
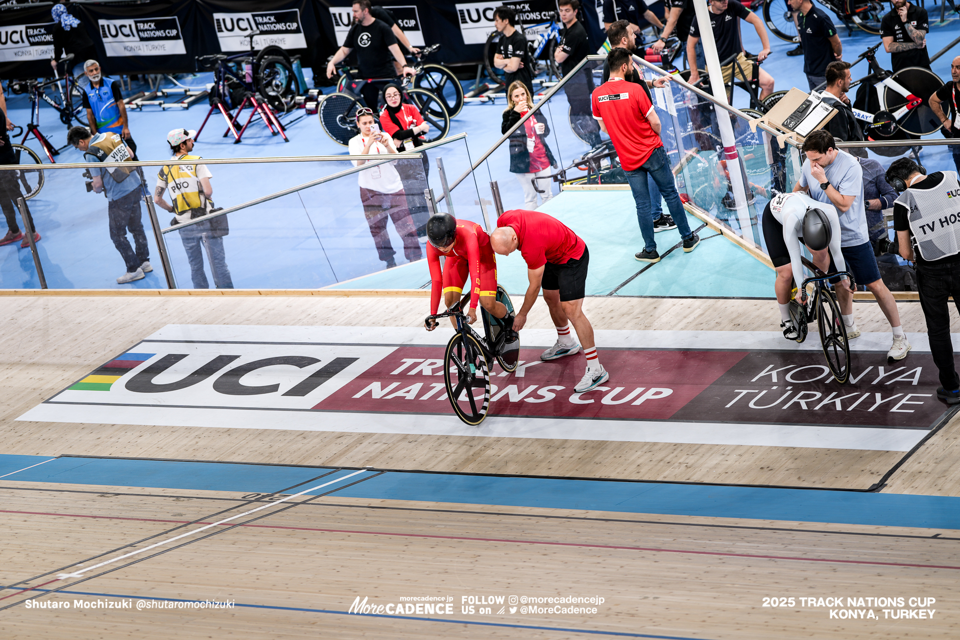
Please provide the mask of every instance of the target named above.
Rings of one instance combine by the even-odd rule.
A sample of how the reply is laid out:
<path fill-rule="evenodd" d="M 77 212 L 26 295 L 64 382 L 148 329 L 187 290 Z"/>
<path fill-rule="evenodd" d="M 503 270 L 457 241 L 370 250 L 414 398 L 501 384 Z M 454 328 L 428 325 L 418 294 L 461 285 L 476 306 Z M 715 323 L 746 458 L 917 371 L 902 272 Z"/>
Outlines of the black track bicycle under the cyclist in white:
<path fill-rule="evenodd" d="M 797 342 L 803 343 L 806 340 L 807 323 L 816 319 L 827 366 L 833 379 L 842 385 L 850 377 L 850 341 L 847 339 L 847 327 L 840 315 L 837 296 L 827 281 L 846 275 L 850 278 L 851 289 L 856 288 L 856 283 L 850 272 L 823 273 L 807 258 L 801 259 L 804 267 L 813 273 L 813 277 L 804 279 L 797 295 L 790 300 L 790 320 L 793 320 L 797 327 Z M 806 296 L 805 304 L 798 302 L 797 296 L 800 296 L 800 291 L 806 290 L 808 284 L 813 285 L 813 295 Z"/>

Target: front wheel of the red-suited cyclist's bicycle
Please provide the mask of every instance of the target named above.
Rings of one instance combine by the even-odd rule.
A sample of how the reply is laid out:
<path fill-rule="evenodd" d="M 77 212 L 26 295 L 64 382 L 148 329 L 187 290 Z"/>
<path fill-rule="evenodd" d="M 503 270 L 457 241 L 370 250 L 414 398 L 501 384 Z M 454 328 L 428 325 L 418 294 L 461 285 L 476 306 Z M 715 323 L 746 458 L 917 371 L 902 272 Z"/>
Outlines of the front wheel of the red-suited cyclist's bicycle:
<path fill-rule="evenodd" d="M 473 336 L 468 334 L 465 341 L 458 333 L 446 344 L 444 367 L 446 396 L 454 413 L 471 426 L 483 422 L 490 407 L 490 364 L 483 348 Z"/>

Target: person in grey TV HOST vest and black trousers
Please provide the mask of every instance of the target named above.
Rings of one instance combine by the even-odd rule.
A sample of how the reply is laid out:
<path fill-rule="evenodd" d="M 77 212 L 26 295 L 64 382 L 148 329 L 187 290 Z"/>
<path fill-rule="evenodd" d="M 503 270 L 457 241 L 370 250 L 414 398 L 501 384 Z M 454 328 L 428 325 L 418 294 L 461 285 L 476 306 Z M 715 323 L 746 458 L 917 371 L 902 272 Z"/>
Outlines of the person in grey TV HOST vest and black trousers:
<path fill-rule="evenodd" d="M 920 305 L 926 319 L 933 363 L 940 369 L 937 397 L 960 404 L 960 378 L 953 367 L 948 297 L 960 309 L 960 223 L 956 209 L 948 208 L 951 194 L 960 190 L 957 175 L 938 171 L 924 176 L 924 168 L 901 157 L 887 169 L 887 181 L 900 192 L 894 202 L 894 229 L 904 260 L 915 260 Z"/>

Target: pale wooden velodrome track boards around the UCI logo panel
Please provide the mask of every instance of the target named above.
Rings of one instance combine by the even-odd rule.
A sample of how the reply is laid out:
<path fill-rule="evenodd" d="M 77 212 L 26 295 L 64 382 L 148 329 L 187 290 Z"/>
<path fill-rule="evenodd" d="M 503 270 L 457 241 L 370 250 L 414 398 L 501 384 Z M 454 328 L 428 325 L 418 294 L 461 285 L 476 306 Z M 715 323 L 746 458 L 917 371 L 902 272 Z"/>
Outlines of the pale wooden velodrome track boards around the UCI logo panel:
<path fill-rule="evenodd" d="M 257 429 L 14 421 L 143 336 L 169 323 L 418 326 L 422 297 L 0 296 L 0 453 L 372 466 L 462 473 L 604 477 L 752 486 L 862 486 L 898 452 L 590 440 L 478 439 Z M 598 329 L 769 331 L 766 300 L 588 298 Z M 917 303 L 904 329 L 924 331 Z M 874 304 L 856 306 L 864 331 L 887 330 Z M 530 325 L 549 328 L 545 307 Z M 960 330 L 954 320 L 953 330 Z M 882 493 L 960 496 L 952 419 L 886 481 Z M 319 477 L 328 469 L 316 469 Z M 364 472 L 368 473 L 368 472 Z M 314 484 L 323 483 L 317 480 Z M 869 483 L 867 483 L 869 484 Z M 312 486 L 312 485 L 304 485 Z M 300 488 L 276 492 L 291 494 Z M 227 636 L 470 638 L 866 638 L 958 636 L 960 535 L 919 527 L 535 509 L 496 504 L 304 495 L 271 505 L 238 492 L 0 479 L 4 545 L 0 637 Z M 56 581 L 179 533 L 265 507 L 244 526 L 91 580 Z M 233 524 L 233 523 L 231 523 Z M 151 537 L 155 536 L 155 537 Z M 200 536 L 196 536 L 199 538 Z M 149 540 L 144 540 L 150 538 Z M 139 541 L 139 542 L 138 542 Z M 131 546 L 128 546 L 131 545 Z M 171 545 L 172 546 L 172 545 Z M 123 551 L 120 551 L 123 548 Z M 143 557 L 149 554 L 144 554 Z M 102 557 L 101 557 L 102 556 Z M 96 557 L 96 560 L 91 558 Z M 137 558 L 132 558 L 137 559 Z M 78 598 L 235 601 L 222 610 L 28 608 Z M 597 614 L 461 615 L 461 596 L 597 595 Z M 836 620 L 827 608 L 765 608 L 764 597 L 931 597 L 932 619 Z M 438 623 L 353 616 L 357 596 L 456 596 Z M 114 594 L 105 596 L 102 594 Z M 288 608 L 283 608 L 288 607 Z M 846 608 L 846 606 L 845 606 Z M 877 610 L 878 607 L 875 606 Z M 319 612 L 324 611 L 324 612 Z M 494 611 L 495 613 L 495 611 Z M 470 621 L 470 622 L 464 622 Z M 478 622 L 479 621 L 479 622 Z M 484 624 L 479 624 L 484 623 Z M 598 636 L 598 633 L 600 634 Z"/>

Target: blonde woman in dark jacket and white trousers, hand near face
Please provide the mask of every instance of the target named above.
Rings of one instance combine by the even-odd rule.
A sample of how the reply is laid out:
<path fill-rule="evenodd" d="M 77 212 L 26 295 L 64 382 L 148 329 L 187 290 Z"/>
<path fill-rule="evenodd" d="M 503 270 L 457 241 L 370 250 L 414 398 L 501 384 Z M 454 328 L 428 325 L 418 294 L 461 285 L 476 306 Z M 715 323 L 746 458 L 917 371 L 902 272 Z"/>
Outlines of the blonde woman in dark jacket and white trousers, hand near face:
<path fill-rule="evenodd" d="M 533 100 L 526 84 L 519 81 L 511 83 L 507 90 L 507 109 L 503 112 L 500 132 L 510 130 L 531 107 Z M 550 179 L 543 178 L 550 174 L 551 166 L 557 166 L 553 153 L 543 139 L 549 132 L 546 122 L 534 115 L 510 136 L 510 172 L 517 175 L 523 187 L 525 209 L 537 208 L 538 195 L 540 203 L 553 197 Z"/>

